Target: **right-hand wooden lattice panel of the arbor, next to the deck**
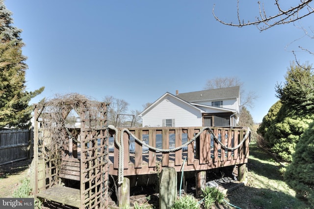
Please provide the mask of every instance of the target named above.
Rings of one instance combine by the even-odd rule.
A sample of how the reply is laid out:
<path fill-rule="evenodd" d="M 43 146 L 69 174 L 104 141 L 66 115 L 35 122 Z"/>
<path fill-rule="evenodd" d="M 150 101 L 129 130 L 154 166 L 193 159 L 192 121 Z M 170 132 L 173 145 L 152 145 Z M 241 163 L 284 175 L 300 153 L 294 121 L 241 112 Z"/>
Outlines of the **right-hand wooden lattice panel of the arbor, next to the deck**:
<path fill-rule="evenodd" d="M 81 190 L 88 198 L 83 200 L 85 208 L 107 208 L 108 202 L 108 130 L 106 112 L 100 107 L 99 120 L 89 122 L 85 113 L 81 127 L 81 176 L 84 178 Z M 83 197 L 82 197 L 83 198 Z"/>

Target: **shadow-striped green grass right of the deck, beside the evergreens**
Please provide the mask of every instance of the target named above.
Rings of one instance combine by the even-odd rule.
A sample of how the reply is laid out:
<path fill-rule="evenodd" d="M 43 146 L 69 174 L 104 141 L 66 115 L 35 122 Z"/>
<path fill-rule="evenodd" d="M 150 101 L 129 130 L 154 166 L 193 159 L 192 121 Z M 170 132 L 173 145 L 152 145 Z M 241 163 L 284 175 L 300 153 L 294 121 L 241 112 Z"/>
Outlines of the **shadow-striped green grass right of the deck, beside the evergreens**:
<path fill-rule="evenodd" d="M 281 163 L 251 143 L 247 184 L 228 194 L 227 201 L 241 209 L 310 209 L 284 182 L 282 168 Z"/>

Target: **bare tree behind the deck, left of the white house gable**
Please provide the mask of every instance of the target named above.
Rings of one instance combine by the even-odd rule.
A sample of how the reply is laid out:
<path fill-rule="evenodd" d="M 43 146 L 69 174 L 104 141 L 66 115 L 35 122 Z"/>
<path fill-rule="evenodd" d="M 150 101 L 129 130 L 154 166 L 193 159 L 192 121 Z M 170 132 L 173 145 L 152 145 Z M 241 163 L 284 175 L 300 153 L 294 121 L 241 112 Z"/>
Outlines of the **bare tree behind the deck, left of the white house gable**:
<path fill-rule="evenodd" d="M 107 120 L 109 125 L 114 125 L 118 114 L 126 114 L 128 111 L 129 103 L 124 99 L 118 99 L 113 96 L 105 96 L 104 102 L 109 104 L 107 109 Z M 120 120 L 125 120 L 124 116 L 120 117 Z"/>

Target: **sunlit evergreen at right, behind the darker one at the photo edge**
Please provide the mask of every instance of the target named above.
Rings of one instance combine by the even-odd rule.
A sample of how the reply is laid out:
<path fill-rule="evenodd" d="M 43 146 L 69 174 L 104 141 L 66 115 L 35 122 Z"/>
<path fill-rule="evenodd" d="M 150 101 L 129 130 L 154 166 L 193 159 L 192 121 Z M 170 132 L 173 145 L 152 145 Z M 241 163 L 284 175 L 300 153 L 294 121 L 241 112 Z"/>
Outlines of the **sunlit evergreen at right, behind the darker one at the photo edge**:
<path fill-rule="evenodd" d="M 271 152 L 291 162 L 295 146 L 313 122 L 314 76 L 309 65 L 291 63 L 283 86 L 277 85 L 280 99 L 263 118 L 259 128 Z"/>

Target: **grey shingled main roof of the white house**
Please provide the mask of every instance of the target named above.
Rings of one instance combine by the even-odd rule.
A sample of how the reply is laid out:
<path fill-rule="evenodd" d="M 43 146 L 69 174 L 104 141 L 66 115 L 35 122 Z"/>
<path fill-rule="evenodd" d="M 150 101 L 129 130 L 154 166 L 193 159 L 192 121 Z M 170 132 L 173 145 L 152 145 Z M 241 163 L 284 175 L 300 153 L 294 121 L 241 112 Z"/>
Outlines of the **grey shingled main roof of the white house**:
<path fill-rule="evenodd" d="M 187 102 L 205 101 L 214 99 L 227 99 L 239 97 L 240 87 L 227 87 L 198 92 L 179 93 L 176 96 Z"/>

